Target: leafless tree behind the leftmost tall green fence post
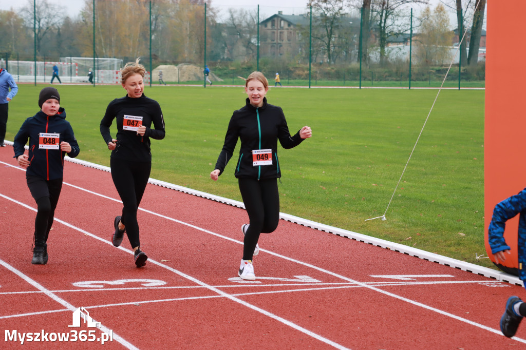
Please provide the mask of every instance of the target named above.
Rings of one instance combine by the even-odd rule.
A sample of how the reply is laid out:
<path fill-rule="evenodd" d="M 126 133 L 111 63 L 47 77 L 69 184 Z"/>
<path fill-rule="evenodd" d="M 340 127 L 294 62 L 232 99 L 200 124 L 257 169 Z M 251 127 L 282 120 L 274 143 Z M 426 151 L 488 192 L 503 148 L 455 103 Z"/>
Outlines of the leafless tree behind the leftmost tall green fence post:
<path fill-rule="evenodd" d="M 35 25 L 36 50 L 40 55 L 45 36 L 62 24 L 62 11 L 58 5 L 50 4 L 47 0 L 36 1 L 36 6 L 33 6 L 32 0 L 27 0 L 27 5 L 22 7 L 20 15 L 28 28 Z"/>

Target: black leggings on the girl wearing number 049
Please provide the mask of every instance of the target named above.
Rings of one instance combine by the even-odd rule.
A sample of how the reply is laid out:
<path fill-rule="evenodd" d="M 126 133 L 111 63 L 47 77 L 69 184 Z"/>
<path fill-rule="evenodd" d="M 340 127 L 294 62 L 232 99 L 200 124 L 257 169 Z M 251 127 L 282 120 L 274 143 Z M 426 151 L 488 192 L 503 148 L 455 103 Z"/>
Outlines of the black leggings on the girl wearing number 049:
<path fill-rule="evenodd" d="M 245 234 L 243 260 L 252 260 L 260 233 L 274 232 L 279 221 L 277 179 L 238 179 L 250 226 Z"/>

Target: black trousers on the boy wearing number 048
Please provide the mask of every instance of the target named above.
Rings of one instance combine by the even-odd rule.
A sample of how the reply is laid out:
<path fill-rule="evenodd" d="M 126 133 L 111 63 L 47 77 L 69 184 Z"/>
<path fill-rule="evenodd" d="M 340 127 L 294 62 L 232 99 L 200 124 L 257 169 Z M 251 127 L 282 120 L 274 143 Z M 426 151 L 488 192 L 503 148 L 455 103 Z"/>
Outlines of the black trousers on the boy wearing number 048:
<path fill-rule="evenodd" d="M 38 176 L 26 176 L 27 187 L 37 204 L 35 218 L 35 247 L 47 247 L 47 237 L 55 218 L 58 197 L 62 190 L 62 178 L 44 180 Z"/>

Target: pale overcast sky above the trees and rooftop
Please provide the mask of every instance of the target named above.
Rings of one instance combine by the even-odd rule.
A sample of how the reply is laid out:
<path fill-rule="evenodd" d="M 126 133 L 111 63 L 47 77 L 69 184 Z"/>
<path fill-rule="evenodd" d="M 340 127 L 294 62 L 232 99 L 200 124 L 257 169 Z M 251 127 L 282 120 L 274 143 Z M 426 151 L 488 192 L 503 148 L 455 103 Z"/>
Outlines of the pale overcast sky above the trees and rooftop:
<path fill-rule="evenodd" d="M 83 8 L 86 0 L 47 0 L 49 3 L 57 4 L 60 8 L 64 9 L 70 17 L 76 17 L 80 10 Z M 434 8 L 440 0 L 430 0 L 430 5 Z M 13 8 L 15 11 L 28 3 L 33 4 L 33 0 L 0 0 L 0 9 L 9 10 Z M 91 3 L 91 0 L 90 0 Z M 256 7 L 259 3 L 260 13 L 274 14 L 278 11 L 283 11 L 284 14 L 302 14 L 305 13 L 307 0 L 212 0 L 211 4 L 214 7 L 227 8 L 227 7 Z M 254 4 L 254 5 L 252 5 Z M 284 6 L 285 4 L 285 6 Z M 421 6 L 415 5 L 415 15 L 421 10 Z M 450 16 L 451 28 L 456 28 L 456 17 L 454 13 Z"/>

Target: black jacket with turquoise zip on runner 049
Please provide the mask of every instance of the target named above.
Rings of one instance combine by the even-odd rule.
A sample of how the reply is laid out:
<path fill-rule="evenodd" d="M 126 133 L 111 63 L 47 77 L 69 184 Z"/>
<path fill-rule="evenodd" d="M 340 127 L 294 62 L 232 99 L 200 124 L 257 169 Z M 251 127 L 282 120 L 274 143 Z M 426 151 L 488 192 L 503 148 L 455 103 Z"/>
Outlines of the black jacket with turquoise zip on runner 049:
<path fill-rule="evenodd" d="M 241 140 L 239 160 L 236 164 L 236 178 L 249 178 L 257 180 L 276 179 L 281 177 L 277 148 L 278 139 L 285 149 L 298 146 L 303 139 L 299 131 L 290 136 L 287 121 L 281 107 L 267 104 L 267 98 L 263 98 L 263 106 L 254 107 L 247 98 L 246 105 L 234 111 L 223 146 L 215 169 L 220 173 L 232 158 L 238 138 Z M 272 164 L 254 166 L 252 164 L 252 150 L 271 149 Z"/>

